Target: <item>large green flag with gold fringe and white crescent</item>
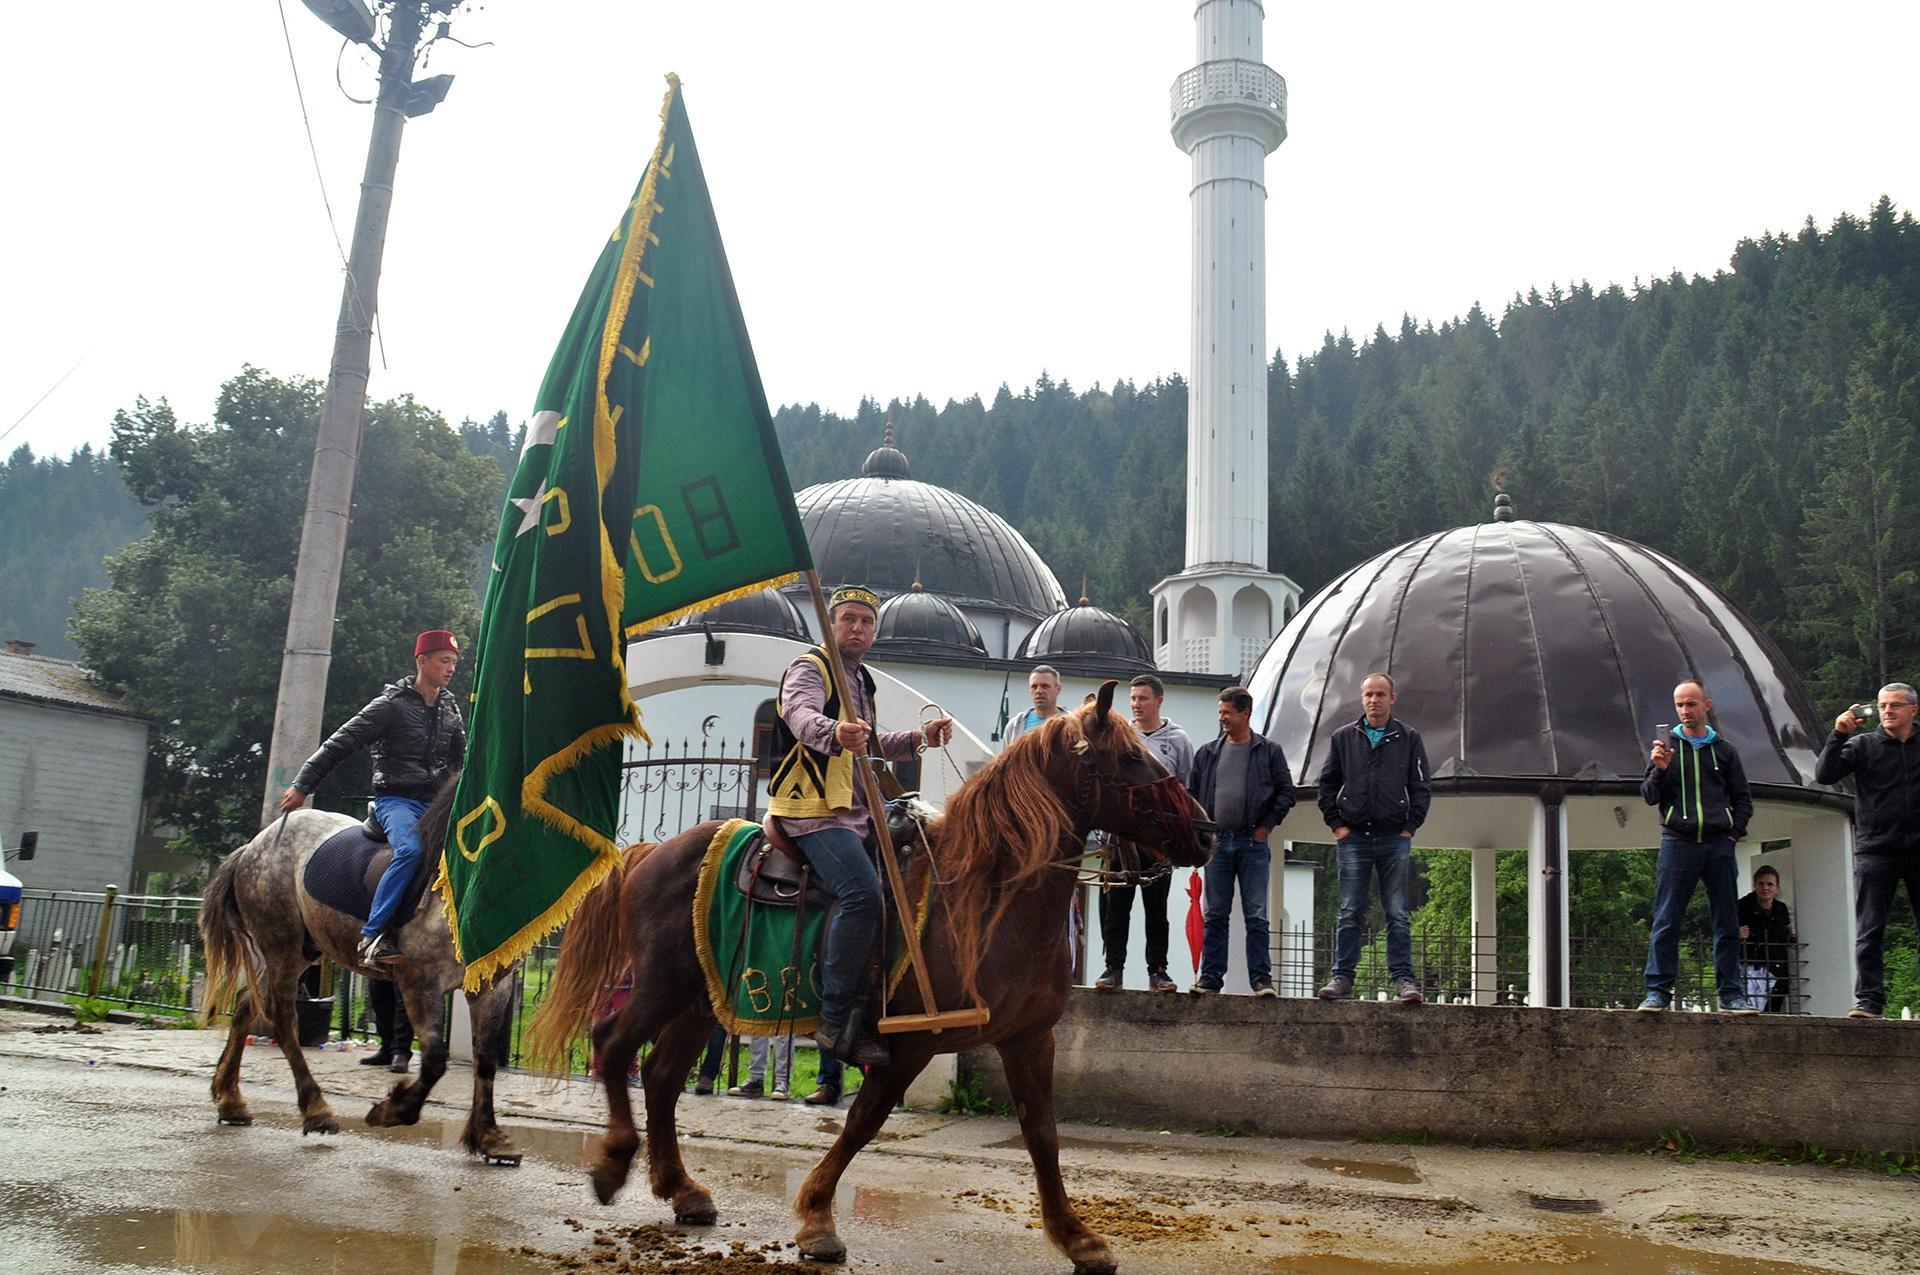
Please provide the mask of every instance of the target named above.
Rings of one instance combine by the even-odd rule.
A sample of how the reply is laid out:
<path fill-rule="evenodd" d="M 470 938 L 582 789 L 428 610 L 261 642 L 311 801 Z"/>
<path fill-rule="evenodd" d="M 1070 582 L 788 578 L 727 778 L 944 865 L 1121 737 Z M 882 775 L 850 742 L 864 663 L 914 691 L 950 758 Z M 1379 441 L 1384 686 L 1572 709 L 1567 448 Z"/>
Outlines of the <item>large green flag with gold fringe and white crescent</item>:
<path fill-rule="evenodd" d="M 436 889 L 478 989 L 620 860 L 626 641 L 812 559 L 680 81 L 534 403 Z"/>

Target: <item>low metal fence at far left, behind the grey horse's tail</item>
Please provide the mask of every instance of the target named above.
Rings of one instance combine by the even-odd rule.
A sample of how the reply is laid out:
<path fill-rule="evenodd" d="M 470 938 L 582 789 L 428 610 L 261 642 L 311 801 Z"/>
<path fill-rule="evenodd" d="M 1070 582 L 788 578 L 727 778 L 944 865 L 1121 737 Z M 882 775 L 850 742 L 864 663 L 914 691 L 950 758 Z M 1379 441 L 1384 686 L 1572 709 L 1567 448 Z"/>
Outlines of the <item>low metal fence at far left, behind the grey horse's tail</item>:
<path fill-rule="evenodd" d="M 205 972 L 198 918 L 190 895 L 27 889 L 13 977 L 0 991 L 186 1014 Z"/>

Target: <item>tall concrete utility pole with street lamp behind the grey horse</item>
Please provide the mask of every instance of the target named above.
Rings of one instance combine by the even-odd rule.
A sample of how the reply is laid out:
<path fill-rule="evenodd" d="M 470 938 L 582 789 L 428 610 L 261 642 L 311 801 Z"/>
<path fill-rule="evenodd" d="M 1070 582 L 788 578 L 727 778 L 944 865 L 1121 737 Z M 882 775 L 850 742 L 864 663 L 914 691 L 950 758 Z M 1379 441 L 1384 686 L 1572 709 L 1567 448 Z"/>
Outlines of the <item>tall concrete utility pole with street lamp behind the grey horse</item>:
<path fill-rule="evenodd" d="M 367 142 L 359 213 L 353 219 L 353 252 L 334 326 L 326 405 L 313 444 L 313 472 L 307 478 L 307 513 L 300 528 L 294 601 L 286 613 L 286 649 L 280 657 L 280 695 L 275 703 L 273 743 L 267 751 L 261 824 L 278 814 L 280 793 L 319 747 L 324 726 L 321 718 L 326 710 L 326 670 L 334 659 L 334 605 L 353 513 L 353 474 L 359 469 L 372 317 L 378 311 L 380 257 L 386 250 L 386 217 L 394 204 L 399 134 L 409 115 L 434 109 L 453 79 L 442 75 L 415 84 L 413 61 L 428 10 L 445 13 L 457 4 L 459 0 L 396 0 L 390 10 L 386 48 L 378 50 L 380 94 L 372 111 L 372 138 Z M 309 0 L 309 8 L 349 40 L 372 44 L 372 19 L 365 6 Z M 346 19 L 340 19 L 340 10 L 349 10 Z"/>

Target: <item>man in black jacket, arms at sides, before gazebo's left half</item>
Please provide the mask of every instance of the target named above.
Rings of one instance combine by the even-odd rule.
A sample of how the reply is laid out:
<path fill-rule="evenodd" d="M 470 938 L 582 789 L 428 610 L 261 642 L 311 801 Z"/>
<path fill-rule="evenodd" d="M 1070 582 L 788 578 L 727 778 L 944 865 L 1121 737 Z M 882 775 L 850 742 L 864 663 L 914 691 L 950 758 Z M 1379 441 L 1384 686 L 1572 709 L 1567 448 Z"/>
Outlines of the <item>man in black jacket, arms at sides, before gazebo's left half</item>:
<path fill-rule="evenodd" d="M 1369 674 L 1359 684 L 1361 718 L 1327 741 L 1319 776 L 1319 806 L 1340 858 L 1340 916 L 1334 922 L 1332 977 L 1323 1000 L 1354 995 L 1359 970 L 1359 922 L 1367 914 L 1373 876 L 1380 876 L 1386 916 L 1386 972 L 1402 1004 L 1423 1000 L 1413 981 L 1413 922 L 1407 891 L 1413 879 L 1413 833 L 1427 822 L 1432 787 L 1421 732 L 1394 716 L 1394 680 Z"/>

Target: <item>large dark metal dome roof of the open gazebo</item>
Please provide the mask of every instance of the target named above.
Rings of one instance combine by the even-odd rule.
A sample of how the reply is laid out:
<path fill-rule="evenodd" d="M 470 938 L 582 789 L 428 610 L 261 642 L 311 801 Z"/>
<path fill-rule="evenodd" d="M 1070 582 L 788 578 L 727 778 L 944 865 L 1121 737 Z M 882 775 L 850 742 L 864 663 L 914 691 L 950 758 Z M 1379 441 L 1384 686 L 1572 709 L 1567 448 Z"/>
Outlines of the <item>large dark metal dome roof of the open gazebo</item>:
<path fill-rule="evenodd" d="M 1354 566 L 1275 636 L 1248 687 L 1254 724 L 1302 783 L 1359 716 L 1369 672 L 1392 674 L 1442 791 L 1638 785 L 1693 678 L 1757 789 L 1834 795 L 1812 783 L 1826 730 L 1807 689 L 1724 593 L 1630 540 L 1513 520 L 1505 495 L 1494 522 Z"/>

